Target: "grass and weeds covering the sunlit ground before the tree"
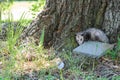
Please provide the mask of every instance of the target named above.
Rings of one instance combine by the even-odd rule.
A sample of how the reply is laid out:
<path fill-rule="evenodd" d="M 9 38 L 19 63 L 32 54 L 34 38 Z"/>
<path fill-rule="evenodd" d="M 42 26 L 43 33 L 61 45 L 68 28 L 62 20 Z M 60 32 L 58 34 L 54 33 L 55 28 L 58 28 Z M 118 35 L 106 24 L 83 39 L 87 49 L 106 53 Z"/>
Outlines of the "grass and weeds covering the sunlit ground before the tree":
<path fill-rule="evenodd" d="M 9 15 L 8 20 L 4 22 L 14 21 Z M 64 50 L 56 56 L 53 48 L 44 49 L 44 28 L 40 35 L 39 45 L 35 44 L 35 39 L 32 37 L 19 42 L 18 39 L 24 29 L 22 26 L 28 25 L 30 20 L 25 20 L 23 14 L 17 22 L 16 31 L 14 25 L 9 24 L 6 41 L 0 41 L 0 66 L 2 66 L 0 80 L 29 80 L 35 77 L 41 80 L 108 80 L 102 77 L 97 78 L 92 70 L 94 66 L 91 66 L 93 60 L 85 58 L 85 56 L 72 54 L 70 50 Z M 74 45 L 74 43 L 72 44 Z M 118 38 L 117 44 L 117 50 L 110 51 L 111 54 L 119 52 L 120 38 Z M 61 70 L 57 68 L 56 64 L 59 60 L 65 63 L 65 67 Z M 113 80 L 119 80 L 119 78 L 117 76 Z"/>

